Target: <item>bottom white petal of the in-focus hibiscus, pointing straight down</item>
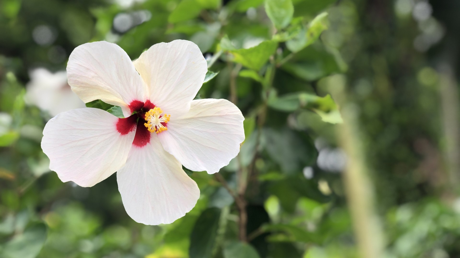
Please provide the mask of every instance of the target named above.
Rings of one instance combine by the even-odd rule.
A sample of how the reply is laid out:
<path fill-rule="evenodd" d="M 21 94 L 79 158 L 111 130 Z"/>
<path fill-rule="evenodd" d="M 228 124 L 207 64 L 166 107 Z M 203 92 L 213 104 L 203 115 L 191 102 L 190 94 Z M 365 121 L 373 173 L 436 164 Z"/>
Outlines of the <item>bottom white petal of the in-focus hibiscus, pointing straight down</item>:
<path fill-rule="evenodd" d="M 155 134 L 146 146 L 132 146 L 126 165 L 116 175 L 126 212 L 138 223 L 172 223 L 200 197 L 195 181 L 163 149 Z"/>

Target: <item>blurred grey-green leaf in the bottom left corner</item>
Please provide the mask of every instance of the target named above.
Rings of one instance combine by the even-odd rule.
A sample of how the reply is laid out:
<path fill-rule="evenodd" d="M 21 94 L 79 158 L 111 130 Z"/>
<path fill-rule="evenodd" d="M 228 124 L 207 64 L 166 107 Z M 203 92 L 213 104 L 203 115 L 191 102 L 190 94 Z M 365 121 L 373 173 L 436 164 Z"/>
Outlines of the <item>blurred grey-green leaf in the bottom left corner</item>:
<path fill-rule="evenodd" d="M 6 242 L 1 257 L 3 258 L 35 258 L 46 241 L 46 227 L 37 224 L 26 229 Z"/>

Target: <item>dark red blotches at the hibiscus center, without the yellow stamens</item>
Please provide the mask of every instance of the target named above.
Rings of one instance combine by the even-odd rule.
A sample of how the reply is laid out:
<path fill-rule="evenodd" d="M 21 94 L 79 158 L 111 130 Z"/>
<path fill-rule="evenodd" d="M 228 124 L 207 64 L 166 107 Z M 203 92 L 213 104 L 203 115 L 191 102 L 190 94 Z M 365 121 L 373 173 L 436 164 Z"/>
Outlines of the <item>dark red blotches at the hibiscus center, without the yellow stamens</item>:
<path fill-rule="evenodd" d="M 132 144 L 139 147 L 147 145 L 147 143 L 150 142 L 151 133 L 147 127 L 144 126 L 144 123 L 147 122 L 145 120 L 145 112 L 148 112 L 154 107 L 155 105 L 150 102 L 150 100 L 145 102 L 132 101 L 129 104 L 129 109 L 131 113 L 135 113 L 127 118 L 118 118 L 116 129 L 121 135 L 126 135 L 129 132 L 136 130 L 136 135 L 134 136 Z"/>

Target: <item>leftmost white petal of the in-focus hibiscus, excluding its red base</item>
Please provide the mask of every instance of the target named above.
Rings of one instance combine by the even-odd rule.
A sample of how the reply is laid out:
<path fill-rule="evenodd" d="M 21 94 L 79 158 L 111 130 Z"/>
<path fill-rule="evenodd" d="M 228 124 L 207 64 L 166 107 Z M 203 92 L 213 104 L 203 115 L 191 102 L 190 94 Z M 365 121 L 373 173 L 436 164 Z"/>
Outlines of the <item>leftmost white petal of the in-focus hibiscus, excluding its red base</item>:
<path fill-rule="evenodd" d="M 46 123 L 41 148 L 50 169 L 63 182 L 93 186 L 123 167 L 135 130 L 121 135 L 118 118 L 101 109 L 81 108 L 60 113 Z"/>

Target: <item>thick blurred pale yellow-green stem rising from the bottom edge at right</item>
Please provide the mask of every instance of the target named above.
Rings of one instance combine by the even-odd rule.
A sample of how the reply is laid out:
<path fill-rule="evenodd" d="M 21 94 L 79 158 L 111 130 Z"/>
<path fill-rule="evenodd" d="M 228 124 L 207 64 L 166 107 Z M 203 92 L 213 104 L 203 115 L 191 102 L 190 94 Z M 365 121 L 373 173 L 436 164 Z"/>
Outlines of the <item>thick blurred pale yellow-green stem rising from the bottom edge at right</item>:
<path fill-rule="evenodd" d="M 361 258 L 381 258 L 383 232 L 380 219 L 375 213 L 374 185 L 366 166 L 357 107 L 346 99 L 345 76 L 334 75 L 328 80 L 329 89 L 341 107 L 340 113 L 344 120 L 338 128 L 338 136 L 340 146 L 347 154 L 344 182 L 358 251 Z"/>

